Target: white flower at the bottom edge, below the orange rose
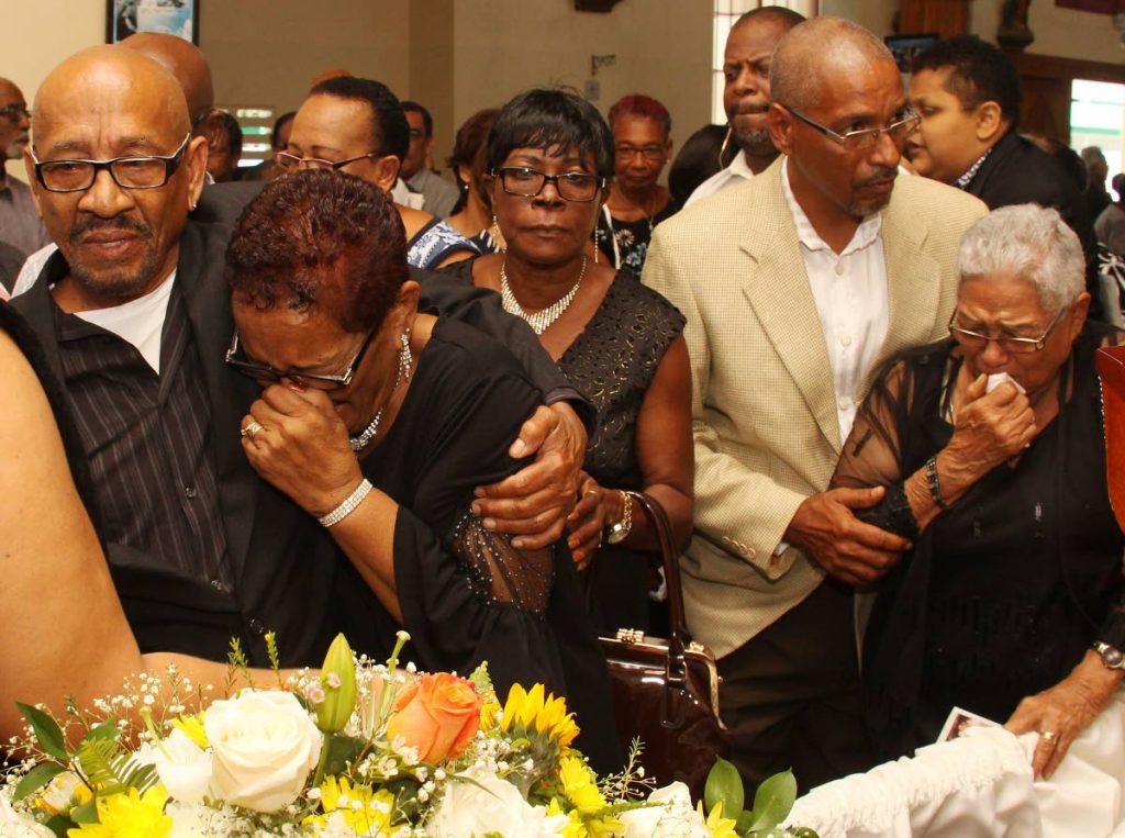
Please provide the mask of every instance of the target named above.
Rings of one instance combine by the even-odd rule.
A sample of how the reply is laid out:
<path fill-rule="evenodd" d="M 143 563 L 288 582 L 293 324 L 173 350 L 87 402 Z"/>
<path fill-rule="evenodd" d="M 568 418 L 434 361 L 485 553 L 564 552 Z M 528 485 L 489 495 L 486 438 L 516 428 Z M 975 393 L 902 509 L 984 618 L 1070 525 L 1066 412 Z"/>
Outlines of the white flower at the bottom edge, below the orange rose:
<path fill-rule="evenodd" d="M 472 838 L 500 835 L 504 838 L 556 838 L 567 825 L 567 816 L 547 817 L 543 807 L 533 807 L 520 790 L 483 768 L 465 773 L 470 781 L 450 778 L 438 811 L 426 823 L 434 838 Z"/>

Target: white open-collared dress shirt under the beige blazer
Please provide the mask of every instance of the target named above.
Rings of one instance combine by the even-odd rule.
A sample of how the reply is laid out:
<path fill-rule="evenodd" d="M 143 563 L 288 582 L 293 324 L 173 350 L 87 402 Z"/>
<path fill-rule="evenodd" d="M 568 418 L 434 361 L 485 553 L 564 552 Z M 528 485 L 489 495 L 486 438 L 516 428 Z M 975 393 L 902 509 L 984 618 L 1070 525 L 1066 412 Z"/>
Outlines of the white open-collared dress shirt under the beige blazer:
<path fill-rule="evenodd" d="M 788 163 L 782 164 L 782 186 L 793 213 L 804 270 L 825 333 L 843 442 L 855 421 L 860 387 L 886 337 L 890 301 L 886 256 L 883 253 L 883 217 L 875 213 L 864 218 L 852 241 L 837 254 L 817 234 L 793 197 Z"/>

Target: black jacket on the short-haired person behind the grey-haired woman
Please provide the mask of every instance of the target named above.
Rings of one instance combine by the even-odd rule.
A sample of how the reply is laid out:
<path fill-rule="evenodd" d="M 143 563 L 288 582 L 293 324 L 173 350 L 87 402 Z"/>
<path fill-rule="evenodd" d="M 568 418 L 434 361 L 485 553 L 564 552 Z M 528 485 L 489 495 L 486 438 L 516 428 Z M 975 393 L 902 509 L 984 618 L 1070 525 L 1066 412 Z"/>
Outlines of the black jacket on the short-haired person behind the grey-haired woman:
<path fill-rule="evenodd" d="M 1086 209 L 1086 200 L 1066 170 L 1050 154 L 1015 132 L 992 146 L 966 190 L 988 204 L 989 209 L 1014 204 L 1038 204 L 1059 210 L 1078 234 L 1086 254 L 1086 290 L 1090 292 L 1090 316 L 1102 316 L 1098 280 L 1098 237 Z"/>

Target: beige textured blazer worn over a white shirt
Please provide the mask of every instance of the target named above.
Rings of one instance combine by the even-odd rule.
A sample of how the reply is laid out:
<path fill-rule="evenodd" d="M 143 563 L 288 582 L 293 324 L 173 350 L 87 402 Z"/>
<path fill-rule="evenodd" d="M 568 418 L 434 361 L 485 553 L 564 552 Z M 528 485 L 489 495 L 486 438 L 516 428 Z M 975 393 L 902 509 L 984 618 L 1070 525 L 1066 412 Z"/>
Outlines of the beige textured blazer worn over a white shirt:
<path fill-rule="evenodd" d="M 778 160 L 657 227 L 644 282 L 687 317 L 695 523 L 682 559 L 687 625 L 722 657 L 817 587 L 794 548 L 798 506 L 827 488 L 842 440 L 832 373 Z M 883 210 L 890 323 L 872 372 L 937 340 L 964 232 L 987 213 L 965 192 L 899 174 Z M 871 385 L 871 375 L 862 395 Z"/>

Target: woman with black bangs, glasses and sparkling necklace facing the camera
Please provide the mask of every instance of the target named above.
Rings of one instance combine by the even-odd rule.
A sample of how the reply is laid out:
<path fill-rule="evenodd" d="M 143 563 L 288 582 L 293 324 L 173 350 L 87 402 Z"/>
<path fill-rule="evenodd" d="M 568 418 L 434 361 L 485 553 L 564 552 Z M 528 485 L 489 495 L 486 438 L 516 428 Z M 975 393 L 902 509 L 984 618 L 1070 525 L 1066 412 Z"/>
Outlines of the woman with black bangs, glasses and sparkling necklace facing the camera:
<path fill-rule="evenodd" d="M 521 93 L 493 125 L 487 162 L 507 250 L 448 272 L 500 291 L 597 408 L 568 543 L 597 629 L 646 629 L 652 579 L 642 551 L 658 542 L 624 490 L 656 497 L 686 541 L 693 454 L 684 317 L 586 255 L 613 172 L 610 129 L 592 105 L 559 90 Z"/>

